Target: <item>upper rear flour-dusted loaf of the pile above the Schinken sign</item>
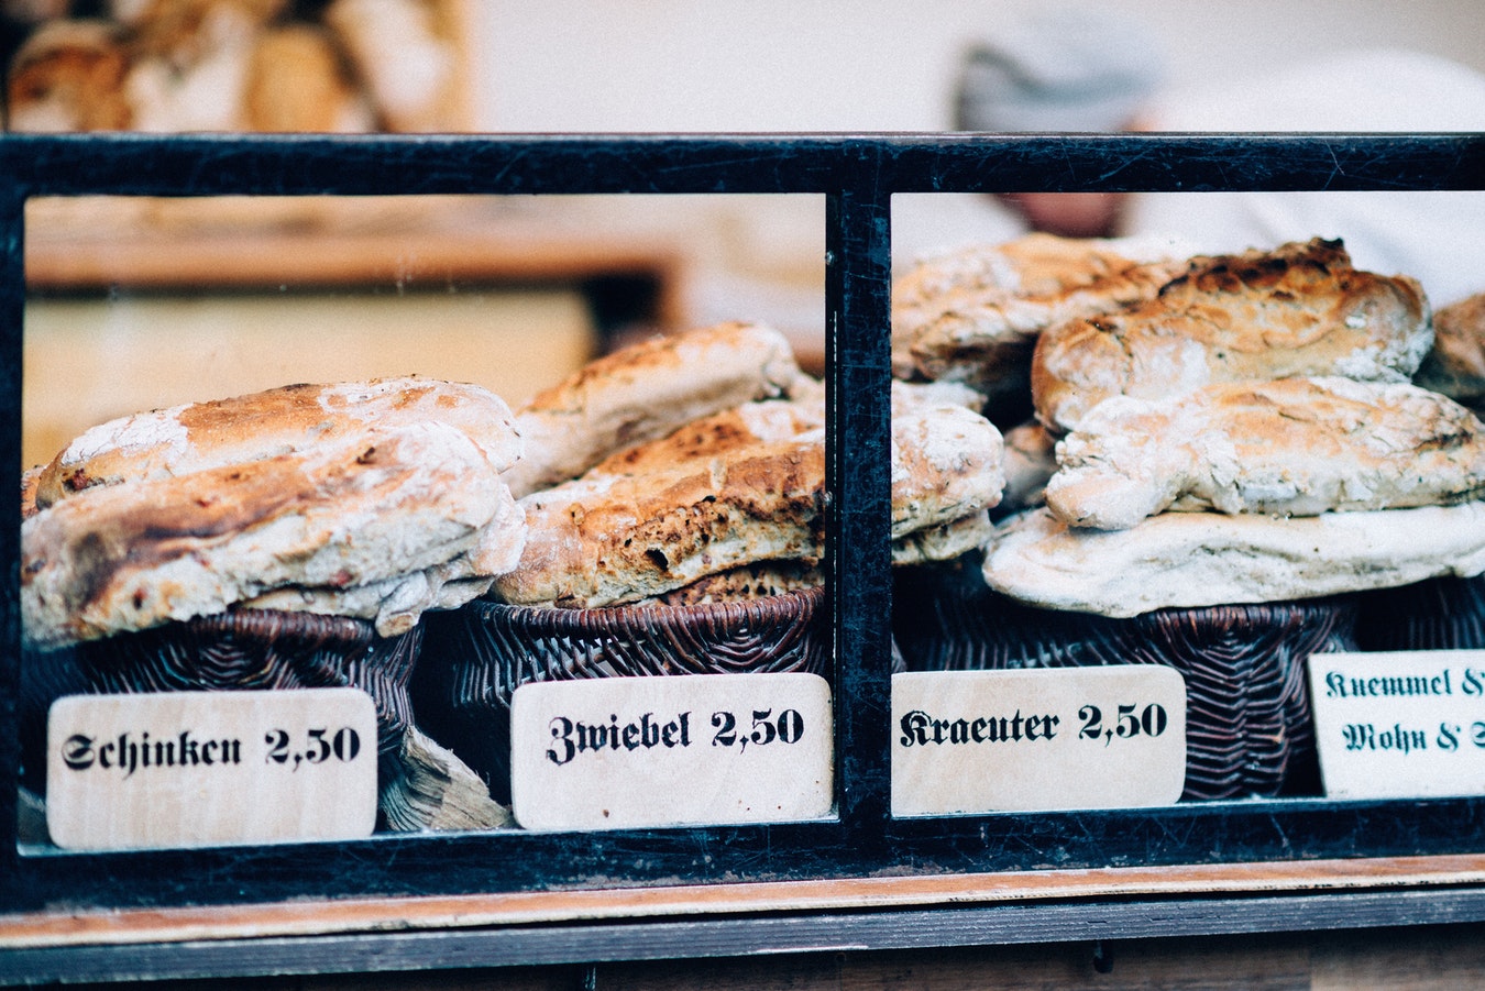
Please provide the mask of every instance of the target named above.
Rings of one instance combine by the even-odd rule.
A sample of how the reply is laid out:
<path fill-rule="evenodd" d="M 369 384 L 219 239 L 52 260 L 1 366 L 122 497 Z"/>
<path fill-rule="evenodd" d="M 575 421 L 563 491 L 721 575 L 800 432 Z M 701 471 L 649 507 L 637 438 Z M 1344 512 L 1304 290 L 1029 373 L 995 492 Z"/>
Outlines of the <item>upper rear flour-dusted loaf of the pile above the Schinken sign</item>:
<path fill-rule="evenodd" d="M 429 420 L 463 431 L 496 471 L 521 455 L 509 407 L 477 385 L 413 377 L 290 385 L 99 423 L 46 465 L 36 499 L 45 508 L 94 486 L 241 465 Z"/>

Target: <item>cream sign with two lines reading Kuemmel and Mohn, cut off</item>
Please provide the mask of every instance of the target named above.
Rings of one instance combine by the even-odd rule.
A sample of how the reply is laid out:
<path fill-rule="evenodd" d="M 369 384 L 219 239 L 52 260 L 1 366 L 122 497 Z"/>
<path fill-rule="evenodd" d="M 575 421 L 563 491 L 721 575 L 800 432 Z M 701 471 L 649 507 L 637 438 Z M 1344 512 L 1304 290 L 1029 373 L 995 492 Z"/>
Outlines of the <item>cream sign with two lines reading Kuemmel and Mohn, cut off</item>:
<path fill-rule="evenodd" d="M 1331 798 L 1485 795 L 1485 651 L 1313 654 Z"/>

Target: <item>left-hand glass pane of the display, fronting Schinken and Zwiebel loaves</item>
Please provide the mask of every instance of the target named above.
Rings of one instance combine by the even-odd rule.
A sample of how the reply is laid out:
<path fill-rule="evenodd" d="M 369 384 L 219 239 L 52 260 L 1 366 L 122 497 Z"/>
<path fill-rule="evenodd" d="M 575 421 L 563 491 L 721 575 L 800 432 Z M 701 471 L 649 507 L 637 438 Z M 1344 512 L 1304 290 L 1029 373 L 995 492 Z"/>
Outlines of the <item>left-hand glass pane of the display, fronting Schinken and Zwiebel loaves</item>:
<path fill-rule="evenodd" d="M 362 688 L 391 832 L 520 828 L 526 682 L 829 680 L 823 224 L 806 196 L 28 204 L 27 848 L 49 848 L 49 765 L 134 777 L 202 753 L 180 727 L 79 728 L 62 762 L 61 695 Z M 741 738 L 823 734 L 824 804 L 783 817 L 829 819 L 833 715 L 805 727 L 790 698 L 750 703 Z M 616 712 L 569 738 L 722 753 L 726 700 L 693 704 L 636 710 L 633 740 Z M 239 732 L 244 762 L 356 752 L 349 722 L 279 730 Z"/>

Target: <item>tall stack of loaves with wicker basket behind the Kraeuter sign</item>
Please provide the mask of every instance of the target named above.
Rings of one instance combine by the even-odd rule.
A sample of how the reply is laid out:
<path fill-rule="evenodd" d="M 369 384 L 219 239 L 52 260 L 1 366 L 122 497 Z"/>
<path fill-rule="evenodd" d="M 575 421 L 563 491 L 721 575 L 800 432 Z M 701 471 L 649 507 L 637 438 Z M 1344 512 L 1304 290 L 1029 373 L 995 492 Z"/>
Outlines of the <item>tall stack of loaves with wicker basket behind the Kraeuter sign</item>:
<path fill-rule="evenodd" d="M 1432 346 L 1414 279 L 1322 239 L 1047 324 L 1007 456 L 1026 502 L 979 569 L 1001 621 L 919 664 L 1173 664 L 1187 796 L 1282 789 L 1304 657 L 1350 642 L 1353 593 L 1485 571 L 1485 426 L 1412 385 Z"/>

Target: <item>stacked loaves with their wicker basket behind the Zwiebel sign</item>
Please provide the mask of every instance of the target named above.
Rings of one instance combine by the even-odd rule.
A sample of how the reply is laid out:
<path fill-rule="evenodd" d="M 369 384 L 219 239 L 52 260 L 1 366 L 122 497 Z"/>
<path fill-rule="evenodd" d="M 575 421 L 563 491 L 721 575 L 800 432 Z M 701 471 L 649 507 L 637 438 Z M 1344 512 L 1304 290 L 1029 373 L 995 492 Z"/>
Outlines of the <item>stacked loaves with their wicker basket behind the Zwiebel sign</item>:
<path fill-rule="evenodd" d="M 999 435 L 962 389 L 904 385 L 894 401 L 894 554 L 959 554 L 999 496 Z M 783 334 L 722 324 L 633 345 L 515 423 L 529 458 L 505 480 L 526 548 L 484 600 L 431 624 L 450 670 L 425 666 L 417 695 L 496 798 L 521 683 L 829 675 L 826 395 Z"/>

